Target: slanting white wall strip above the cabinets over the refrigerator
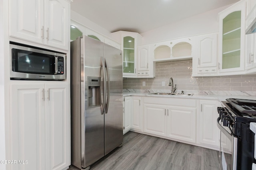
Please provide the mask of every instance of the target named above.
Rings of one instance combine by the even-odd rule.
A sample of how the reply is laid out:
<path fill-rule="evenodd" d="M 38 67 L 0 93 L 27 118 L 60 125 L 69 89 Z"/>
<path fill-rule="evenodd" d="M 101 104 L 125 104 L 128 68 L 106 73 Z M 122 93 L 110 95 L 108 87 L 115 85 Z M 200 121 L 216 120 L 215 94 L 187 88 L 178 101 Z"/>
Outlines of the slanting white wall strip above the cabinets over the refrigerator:
<path fill-rule="evenodd" d="M 85 18 L 84 16 L 81 16 L 80 14 L 74 12 L 74 11 L 70 11 L 70 18 L 73 21 L 76 21 L 98 33 L 101 33 L 103 35 L 105 35 L 106 37 L 110 37 L 110 31 L 106 30 L 103 27 L 100 27 L 99 25 L 97 25 L 96 23 L 94 23 L 93 21 L 88 20 L 87 18 Z"/>

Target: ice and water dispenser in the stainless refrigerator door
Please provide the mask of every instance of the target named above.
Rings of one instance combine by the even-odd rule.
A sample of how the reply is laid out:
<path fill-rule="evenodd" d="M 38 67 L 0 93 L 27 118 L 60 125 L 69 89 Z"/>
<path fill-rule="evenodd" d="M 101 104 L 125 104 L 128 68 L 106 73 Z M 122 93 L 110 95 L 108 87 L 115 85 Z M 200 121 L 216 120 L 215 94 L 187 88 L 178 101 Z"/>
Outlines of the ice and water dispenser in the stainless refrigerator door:
<path fill-rule="evenodd" d="M 88 78 L 88 107 L 100 106 L 100 77 Z"/>

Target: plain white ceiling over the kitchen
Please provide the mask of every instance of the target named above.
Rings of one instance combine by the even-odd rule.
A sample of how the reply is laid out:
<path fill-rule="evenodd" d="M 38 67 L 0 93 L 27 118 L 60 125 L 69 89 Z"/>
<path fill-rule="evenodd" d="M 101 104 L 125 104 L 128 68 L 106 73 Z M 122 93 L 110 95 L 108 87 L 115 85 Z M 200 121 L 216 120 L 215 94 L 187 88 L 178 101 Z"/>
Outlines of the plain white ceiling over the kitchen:
<path fill-rule="evenodd" d="M 71 10 L 110 32 L 144 33 L 239 0 L 74 0 Z"/>

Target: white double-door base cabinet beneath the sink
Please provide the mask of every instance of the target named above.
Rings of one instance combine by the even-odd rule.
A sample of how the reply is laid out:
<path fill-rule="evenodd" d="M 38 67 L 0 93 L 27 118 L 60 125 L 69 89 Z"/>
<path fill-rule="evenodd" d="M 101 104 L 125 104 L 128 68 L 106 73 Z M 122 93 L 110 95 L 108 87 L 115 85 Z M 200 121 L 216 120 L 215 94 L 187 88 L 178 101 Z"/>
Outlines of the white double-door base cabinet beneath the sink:
<path fill-rule="evenodd" d="M 196 100 L 146 97 L 144 101 L 148 102 L 144 103 L 144 132 L 196 142 Z"/>

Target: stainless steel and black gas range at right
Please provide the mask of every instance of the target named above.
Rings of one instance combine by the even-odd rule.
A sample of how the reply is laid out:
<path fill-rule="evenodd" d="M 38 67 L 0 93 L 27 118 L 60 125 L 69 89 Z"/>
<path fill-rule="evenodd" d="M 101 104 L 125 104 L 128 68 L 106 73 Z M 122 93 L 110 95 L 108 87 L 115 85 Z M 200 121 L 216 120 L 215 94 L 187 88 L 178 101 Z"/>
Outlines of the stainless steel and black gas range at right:
<path fill-rule="evenodd" d="M 217 126 L 220 133 L 220 169 L 252 170 L 254 159 L 254 133 L 250 123 L 256 122 L 256 100 L 229 98 L 218 107 Z M 231 145 L 231 154 L 223 149 L 222 137 Z"/>

